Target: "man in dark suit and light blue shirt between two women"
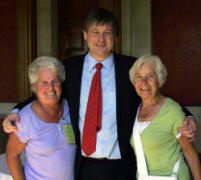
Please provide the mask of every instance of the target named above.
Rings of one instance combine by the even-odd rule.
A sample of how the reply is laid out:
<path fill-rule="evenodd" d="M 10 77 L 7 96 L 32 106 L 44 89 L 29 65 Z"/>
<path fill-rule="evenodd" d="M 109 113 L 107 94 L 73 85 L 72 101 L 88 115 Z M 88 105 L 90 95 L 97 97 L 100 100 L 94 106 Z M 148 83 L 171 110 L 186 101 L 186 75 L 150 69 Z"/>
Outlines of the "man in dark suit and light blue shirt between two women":
<path fill-rule="evenodd" d="M 129 141 L 140 99 L 128 74 L 135 58 L 112 51 L 117 33 L 117 19 L 113 13 L 105 9 L 92 11 L 84 31 L 89 51 L 63 61 L 66 68 L 63 96 L 68 100 L 78 146 L 75 179 L 136 179 L 135 156 Z M 96 131 L 95 149 L 87 153 L 83 148 L 83 136 L 97 63 L 101 63 L 101 127 Z"/>

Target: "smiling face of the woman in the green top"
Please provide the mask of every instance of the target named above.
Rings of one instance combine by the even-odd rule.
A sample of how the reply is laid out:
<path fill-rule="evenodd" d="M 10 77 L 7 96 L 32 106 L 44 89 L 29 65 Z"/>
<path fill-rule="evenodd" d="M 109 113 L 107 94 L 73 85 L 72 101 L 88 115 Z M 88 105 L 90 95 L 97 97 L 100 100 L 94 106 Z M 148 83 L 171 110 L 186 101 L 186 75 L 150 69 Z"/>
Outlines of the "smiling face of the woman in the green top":
<path fill-rule="evenodd" d="M 152 100 L 159 94 L 159 82 L 151 63 L 144 63 L 137 70 L 134 86 L 142 100 Z"/>

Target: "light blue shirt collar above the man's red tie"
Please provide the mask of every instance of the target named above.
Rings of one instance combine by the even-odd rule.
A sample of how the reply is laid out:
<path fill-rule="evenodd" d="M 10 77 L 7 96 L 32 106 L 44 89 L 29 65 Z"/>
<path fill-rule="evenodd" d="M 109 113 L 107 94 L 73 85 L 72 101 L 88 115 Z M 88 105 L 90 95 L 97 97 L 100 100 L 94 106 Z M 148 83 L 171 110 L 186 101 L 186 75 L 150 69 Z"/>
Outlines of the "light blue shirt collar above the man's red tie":
<path fill-rule="evenodd" d="M 102 63 L 103 67 L 107 70 L 110 70 L 112 66 L 114 65 L 114 55 L 113 53 L 107 57 L 104 61 L 97 61 L 94 57 L 92 57 L 89 53 L 86 55 L 86 63 L 88 64 L 89 70 L 91 71 L 93 68 L 95 68 L 95 65 L 97 63 Z"/>

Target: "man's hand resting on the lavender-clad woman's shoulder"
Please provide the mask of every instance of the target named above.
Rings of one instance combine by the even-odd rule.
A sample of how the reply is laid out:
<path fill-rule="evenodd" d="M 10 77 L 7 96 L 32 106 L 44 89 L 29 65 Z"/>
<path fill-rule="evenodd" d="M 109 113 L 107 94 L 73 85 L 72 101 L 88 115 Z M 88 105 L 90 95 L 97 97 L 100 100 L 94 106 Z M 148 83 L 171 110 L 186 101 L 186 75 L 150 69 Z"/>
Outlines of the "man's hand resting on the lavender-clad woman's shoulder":
<path fill-rule="evenodd" d="M 9 114 L 3 120 L 3 129 L 6 133 L 18 132 L 17 123 L 19 123 L 19 116 L 17 113 Z"/>

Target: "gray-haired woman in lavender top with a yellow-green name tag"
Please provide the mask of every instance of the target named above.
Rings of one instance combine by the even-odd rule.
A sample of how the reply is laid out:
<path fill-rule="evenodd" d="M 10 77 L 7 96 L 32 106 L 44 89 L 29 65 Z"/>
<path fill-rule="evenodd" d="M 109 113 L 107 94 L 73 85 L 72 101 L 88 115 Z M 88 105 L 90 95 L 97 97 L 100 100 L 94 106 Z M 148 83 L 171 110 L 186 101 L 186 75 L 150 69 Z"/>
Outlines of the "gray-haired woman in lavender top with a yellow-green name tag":
<path fill-rule="evenodd" d="M 19 113 L 19 132 L 9 136 L 8 168 L 14 180 L 73 180 L 75 139 L 66 100 L 60 100 L 64 66 L 39 57 L 29 66 L 37 99 Z M 24 169 L 19 159 L 25 150 Z"/>

